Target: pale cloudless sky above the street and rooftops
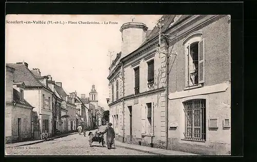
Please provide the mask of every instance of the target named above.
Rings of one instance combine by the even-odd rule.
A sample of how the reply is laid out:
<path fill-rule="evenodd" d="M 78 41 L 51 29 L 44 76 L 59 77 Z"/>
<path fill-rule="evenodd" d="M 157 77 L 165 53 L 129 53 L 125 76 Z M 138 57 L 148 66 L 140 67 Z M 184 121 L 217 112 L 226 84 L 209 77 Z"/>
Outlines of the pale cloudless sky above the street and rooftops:
<path fill-rule="evenodd" d="M 67 94 L 76 90 L 79 97 L 81 94 L 88 97 L 94 84 L 98 92 L 98 103 L 106 110 L 106 98 L 109 98 L 108 51 L 114 52 L 112 59 L 121 51 L 120 27 L 133 19 L 134 22 L 143 22 L 152 30 L 160 17 L 161 15 L 7 15 L 6 63 L 25 61 L 30 70 L 39 68 L 42 76 L 50 74 L 52 80 L 62 82 Z M 11 24 L 13 21 L 20 23 Z M 26 24 L 26 21 L 31 23 Z M 46 24 L 35 24 L 35 21 Z M 62 24 L 47 24 L 50 21 Z M 78 24 L 79 21 L 96 21 L 100 24 Z M 109 24 L 109 21 L 113 23 Z"/>

